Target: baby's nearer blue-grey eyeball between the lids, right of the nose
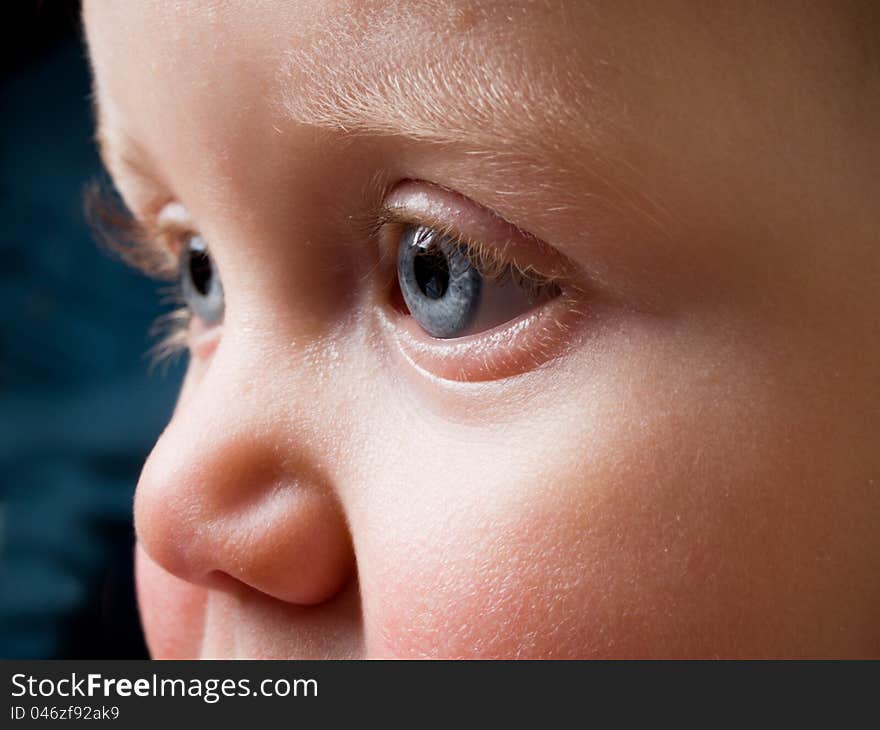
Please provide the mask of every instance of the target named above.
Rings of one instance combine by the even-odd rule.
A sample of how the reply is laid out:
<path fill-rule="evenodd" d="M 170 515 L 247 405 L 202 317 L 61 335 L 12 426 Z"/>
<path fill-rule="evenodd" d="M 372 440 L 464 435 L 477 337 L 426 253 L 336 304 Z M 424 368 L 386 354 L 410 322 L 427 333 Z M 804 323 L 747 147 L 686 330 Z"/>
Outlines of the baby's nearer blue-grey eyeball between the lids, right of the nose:
<path fill-rule="evenodd" d="M 559 295 L 559 287 L 493 262 L 474 247 L 424 225 L 407 225 L 399 239 L 397 281 L 422 329 L 450 339 L 478 334 Z M 491 271 L 489 270 L 491 269 Z"/>

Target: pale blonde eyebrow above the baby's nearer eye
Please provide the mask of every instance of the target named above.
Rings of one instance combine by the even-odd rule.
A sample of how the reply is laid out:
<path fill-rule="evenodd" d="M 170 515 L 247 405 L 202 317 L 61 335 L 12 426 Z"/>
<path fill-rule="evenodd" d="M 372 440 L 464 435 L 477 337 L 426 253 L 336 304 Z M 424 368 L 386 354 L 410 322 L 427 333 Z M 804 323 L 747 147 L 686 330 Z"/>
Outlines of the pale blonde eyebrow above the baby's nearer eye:
<path fill-rule="evenodd" d="M 552 81 L 540 87 L 532 82 L 534 88 L 524 91 L 505 69 L 486 64 L 424 59 L 403 66 L 328 67 L 312 54 L 288 60 L 291 76 L 292 66 L 297 79 L 307 80 L 288 86 L 282 106 L 300 124 L 524 152 L 546 151 L 544 135 L 561 133 L 567 117 L 578 118 L 581 144 L 592 131 L 573 108 L 576 100 L 563 99 Z M 545 113 L 523 103 L 529 97 L 538 97 Z"/>

